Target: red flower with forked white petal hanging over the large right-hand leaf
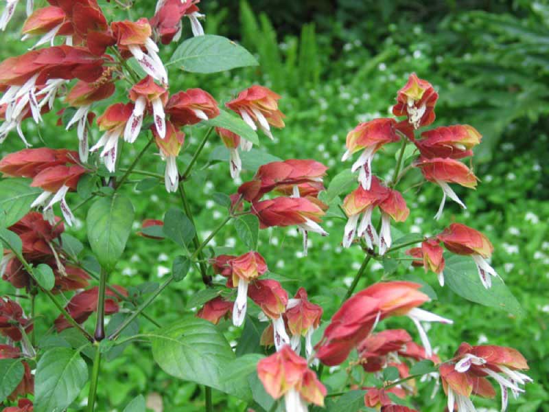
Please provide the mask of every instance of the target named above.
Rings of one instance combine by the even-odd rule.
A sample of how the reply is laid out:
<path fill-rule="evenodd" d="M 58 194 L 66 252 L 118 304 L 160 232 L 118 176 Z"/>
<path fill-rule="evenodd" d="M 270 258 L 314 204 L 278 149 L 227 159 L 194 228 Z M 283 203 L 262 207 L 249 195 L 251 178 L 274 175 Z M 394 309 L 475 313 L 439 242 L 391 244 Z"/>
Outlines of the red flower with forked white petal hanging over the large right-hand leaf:
<path fill-rule="evenodd" d="M 493 246 L 486 236 L 461 223 L 452 223 L 436 238 L 452 253 L 471 256 L 484 288 L 488 289 L 492 286 L 491 276 L 497 277 L 498 273 L 487 262 L 492 255 Z"/>

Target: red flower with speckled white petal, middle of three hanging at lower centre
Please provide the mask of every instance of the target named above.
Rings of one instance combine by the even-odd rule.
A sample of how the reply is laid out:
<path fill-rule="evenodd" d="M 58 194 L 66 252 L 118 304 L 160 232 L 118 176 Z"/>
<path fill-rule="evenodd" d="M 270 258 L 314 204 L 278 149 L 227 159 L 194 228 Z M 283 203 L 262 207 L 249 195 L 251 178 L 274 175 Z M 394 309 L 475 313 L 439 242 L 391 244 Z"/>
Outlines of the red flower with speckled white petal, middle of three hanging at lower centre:
<path fill-rule="evenodd" d="M 261 308 L 265 317 L 272 320 L 274 347 L 280 350 L 284 345 L 290 345 L 283 318 L 288 292 L 276 280 L 259 279 L 248 287 L 248 296 Z"/>

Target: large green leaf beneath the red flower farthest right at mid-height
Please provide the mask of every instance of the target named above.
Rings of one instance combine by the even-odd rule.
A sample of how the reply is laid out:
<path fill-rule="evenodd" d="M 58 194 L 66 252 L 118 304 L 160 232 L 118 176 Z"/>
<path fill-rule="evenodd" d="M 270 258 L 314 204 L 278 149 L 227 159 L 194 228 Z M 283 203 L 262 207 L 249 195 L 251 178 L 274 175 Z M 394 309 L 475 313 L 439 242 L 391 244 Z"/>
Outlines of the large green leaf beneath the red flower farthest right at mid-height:
<path fill-rule="evenodd" d="M 445 260 L 445 282 L 460 297 L 491 308 L 506 310 L 515 315 L 522 314 L 519 302 L 502 279 L 492 277 L 492 287 L 486 289 L 480 282 L 476 264 L 472 258 L 452 255 Z"/>

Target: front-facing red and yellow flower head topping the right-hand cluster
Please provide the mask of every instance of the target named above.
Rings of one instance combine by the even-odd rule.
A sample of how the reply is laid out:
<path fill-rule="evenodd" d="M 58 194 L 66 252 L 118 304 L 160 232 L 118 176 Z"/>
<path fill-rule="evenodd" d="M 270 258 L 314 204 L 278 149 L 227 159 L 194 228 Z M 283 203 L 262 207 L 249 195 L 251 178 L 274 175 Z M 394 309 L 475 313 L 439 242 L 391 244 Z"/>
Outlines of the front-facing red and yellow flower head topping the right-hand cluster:
<path fill-rule="evenodd" d="M 397 104 L 393 106 L 393 115 L 406 116 L 414 128 L 428 126 L 434 122 L 434 105 L 439 94 L 427 80 L 410 74 L 408 82 L 397 93 Z"/>

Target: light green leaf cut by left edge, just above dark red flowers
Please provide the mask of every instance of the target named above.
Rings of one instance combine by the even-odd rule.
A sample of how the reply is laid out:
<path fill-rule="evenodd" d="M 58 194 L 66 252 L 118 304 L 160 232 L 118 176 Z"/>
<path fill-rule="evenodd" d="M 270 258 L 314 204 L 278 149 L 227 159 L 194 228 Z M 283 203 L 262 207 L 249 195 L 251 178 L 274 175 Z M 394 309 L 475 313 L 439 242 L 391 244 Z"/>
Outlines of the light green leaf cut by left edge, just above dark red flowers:
<path fill-rule="evenodd" d="M 0 226 L 10 227 L 19 221 L 42 190 L 30 187 L 29 179 L 4 179 L 0 181 Z"/>

